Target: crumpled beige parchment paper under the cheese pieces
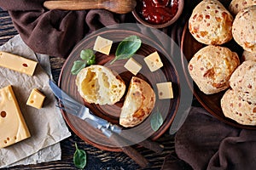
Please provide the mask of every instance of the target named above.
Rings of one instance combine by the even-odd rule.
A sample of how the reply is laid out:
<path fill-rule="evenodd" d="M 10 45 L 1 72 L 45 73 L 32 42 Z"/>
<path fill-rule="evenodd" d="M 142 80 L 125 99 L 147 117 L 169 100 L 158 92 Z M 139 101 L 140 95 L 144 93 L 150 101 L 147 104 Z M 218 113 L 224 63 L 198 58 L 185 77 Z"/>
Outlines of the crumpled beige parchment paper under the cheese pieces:
<path fill-rule="evenodd" d="M 0 50 L 38 60 L 36 54 L 26 46 L 19 35 L 1 46 Z M 41 63 L 37 65 L 32 77 L 0 67 L 0 88 L 12 85 L 20 111 L 32 135 L 29 139 L 0 149 L 0 167 L 61 159 L 59 142 L 69 137 L 71 133 L 68 131 L 60 110 L 55 108 L 55 96 L 48 85 L 50 72 L 47 58 L 47 56 L 42 56 L 42 58 L 39 56 Z M 48 74 L 41 64 L 48 70 Z M 33 88 L 38 88 L 46 96 L 43 108 L 40 110 L 26 105 L 26 100 Z"/>

